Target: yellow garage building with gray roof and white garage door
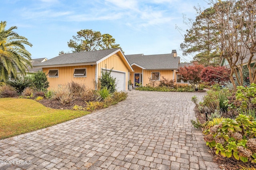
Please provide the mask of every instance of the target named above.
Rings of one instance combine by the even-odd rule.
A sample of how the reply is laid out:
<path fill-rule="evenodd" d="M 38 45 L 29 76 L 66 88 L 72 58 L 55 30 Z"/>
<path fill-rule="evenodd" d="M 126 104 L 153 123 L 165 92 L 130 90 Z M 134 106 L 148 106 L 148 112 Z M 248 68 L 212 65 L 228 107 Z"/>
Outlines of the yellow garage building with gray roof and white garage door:
<path fill-rule="evenodd" d="M 34 67 L 46 72 L 50 88 L 73 81 L 91 89 L 96 88 L 102 70 L 113 68 L 118 91 L 128 90 L 128 74 L 134 71 L 120 48 L 62 54 Z"/>

